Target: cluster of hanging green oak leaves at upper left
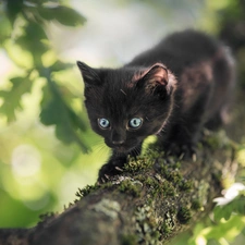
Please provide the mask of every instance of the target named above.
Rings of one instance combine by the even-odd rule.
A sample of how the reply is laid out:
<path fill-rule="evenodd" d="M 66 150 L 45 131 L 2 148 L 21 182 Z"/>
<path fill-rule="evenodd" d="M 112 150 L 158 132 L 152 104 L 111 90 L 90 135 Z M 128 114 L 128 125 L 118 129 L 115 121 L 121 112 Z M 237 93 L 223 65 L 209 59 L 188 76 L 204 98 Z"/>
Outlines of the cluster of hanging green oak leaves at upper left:
<path fill-rule="evenodd" d="M 81 135 L 81 132 L 86 131 L 86 123 L 70 106 L 76 96 L 68 87 L 60 87 L 53 82 L 53 73 L 66 70 L 72 64 L 59 60 L 46 33 L 49 22 L 79 26 L 86 19 L 59 1 L 5 0 L 0 11 L 0 29 L 3 29 L 1 46 L 22 69 L 21 75 L 10 79 L 10 89 L 0 93 L 3 101 L 0 113 L 7 117 L 8 122 L 14 121 L 16 110 L 22 109 L 22 96 L 30 93 L 38 78 L 44 77 L 41 122 L 56 125 L 58 138 L 65 143 L 76 142 L 83 151 L 87 151 L 88 147 Z"/>

